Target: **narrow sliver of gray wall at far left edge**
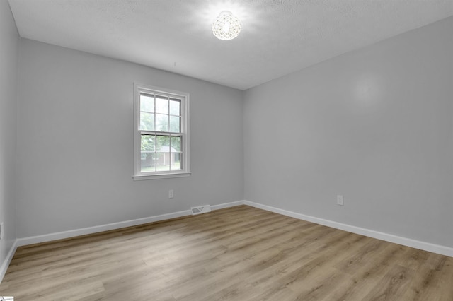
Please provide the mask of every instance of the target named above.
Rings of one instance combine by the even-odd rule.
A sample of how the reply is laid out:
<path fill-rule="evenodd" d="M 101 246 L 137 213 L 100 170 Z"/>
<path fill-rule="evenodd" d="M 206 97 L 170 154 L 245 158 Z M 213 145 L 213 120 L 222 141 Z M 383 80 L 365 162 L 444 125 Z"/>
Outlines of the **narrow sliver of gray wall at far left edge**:
<path fill-rule="evenodd" d="M 0 0 L 0 265 L 16 240 L 15 153 L 19 36 L 8 1 Z"/>

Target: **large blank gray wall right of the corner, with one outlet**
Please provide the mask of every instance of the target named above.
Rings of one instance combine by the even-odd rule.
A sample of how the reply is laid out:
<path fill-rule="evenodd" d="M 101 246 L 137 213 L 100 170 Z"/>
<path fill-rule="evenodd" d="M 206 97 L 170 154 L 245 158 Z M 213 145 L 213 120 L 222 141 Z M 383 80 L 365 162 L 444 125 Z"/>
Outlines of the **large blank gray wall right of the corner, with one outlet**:
<path fill-rule="evenodd" d="M 453 247 L 452 33 L 453 17 L 247 90 L 245 199 Z"/>

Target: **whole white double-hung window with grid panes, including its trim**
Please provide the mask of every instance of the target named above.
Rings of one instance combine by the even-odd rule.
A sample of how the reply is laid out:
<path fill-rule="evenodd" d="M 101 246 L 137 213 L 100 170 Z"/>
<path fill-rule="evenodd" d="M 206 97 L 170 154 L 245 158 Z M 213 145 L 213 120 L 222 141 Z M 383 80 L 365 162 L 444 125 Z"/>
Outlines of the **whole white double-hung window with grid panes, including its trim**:
<path fill-rule="evenodd" d="M 189 94 L 134 85 L 134 179 L 188 177 Z"/>

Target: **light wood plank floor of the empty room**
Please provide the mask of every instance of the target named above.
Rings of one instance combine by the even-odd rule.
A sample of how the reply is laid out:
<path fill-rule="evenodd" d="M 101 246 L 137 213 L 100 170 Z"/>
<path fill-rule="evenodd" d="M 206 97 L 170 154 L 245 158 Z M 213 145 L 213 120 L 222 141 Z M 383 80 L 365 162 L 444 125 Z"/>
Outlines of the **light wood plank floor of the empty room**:
<path fill-rule="evenodd" d="M 248 206 L 19 247 L 15 300 L 453 300 L 453 258 Z"/>

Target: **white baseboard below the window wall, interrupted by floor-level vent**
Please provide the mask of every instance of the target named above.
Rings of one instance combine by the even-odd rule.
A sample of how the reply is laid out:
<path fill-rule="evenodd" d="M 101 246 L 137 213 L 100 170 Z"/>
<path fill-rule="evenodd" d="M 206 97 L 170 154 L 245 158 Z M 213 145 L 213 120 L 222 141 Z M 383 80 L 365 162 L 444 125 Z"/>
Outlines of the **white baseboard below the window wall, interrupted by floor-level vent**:
<path fill-rule="evenodd" d="M 222 203 L 219 205 L 213 205 L 213 206 L 211 206 L 211 208 L 212 208 L 212 210 L 218 210 L 218 209 L 222 209 L 222 208 L 243 205 L 243 203 L 244 203 L 244 201 L 234 201 L 231 203 Z M 24 237 L 24 238 L 19 238 L 17 240 L 17 242 L 18 242 L 18 246 L 20 247 L 20 246 L 25 246 L 28 244 L 38 244 L 40 242 L 50 242 L 52 240 L 62 240 L 64 238 L 93 234 L 93 233 L 103 232 L 103 231 L 108 231 L 108 230 L 116 230 L 116 229 L 120 229 L 120 228 L 131 227 L 134 225 L 154 223 L 154 222 L 158 222 L 161 220 L 169 220 L 171 218 L 180 218 L 181 216 L 190 216 L 190 215 L 192 215 L 190 210 L 178 211 L 178 212 L 173 212 L 173 213 L 161 214 L 159 216 L 149 216 L 147 218 L 137 218 L 135 220 L 125 220 L 125 221 L 118 222 L 118 223 L 110 223 L 110 224 L 106 224 L 106 225 L 97 225 L 97 226 L 93 226 L 93 227 L 81 228 L 81 229 L 76 229 L 76 230 L 55 232 L 55 233 L 32 236 L 32 237 Z"/>

